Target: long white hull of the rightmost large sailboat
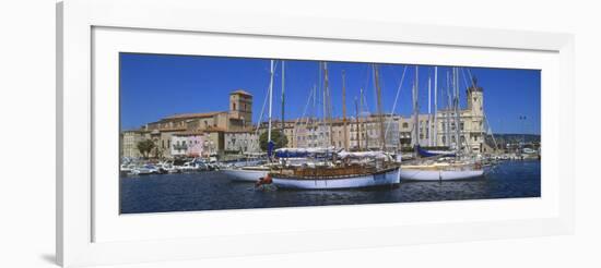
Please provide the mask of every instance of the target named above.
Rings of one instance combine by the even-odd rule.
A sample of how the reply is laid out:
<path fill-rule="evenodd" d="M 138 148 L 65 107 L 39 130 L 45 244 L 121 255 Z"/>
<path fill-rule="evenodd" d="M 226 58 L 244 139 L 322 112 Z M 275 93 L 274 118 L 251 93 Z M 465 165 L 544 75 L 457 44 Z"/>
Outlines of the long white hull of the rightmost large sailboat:
<path fill-rule="evenodd" d="M 452 181 L 468 180 L 484 175 L 484 170 L 423 170 L 403 169 L 401 167 L 401 180 L 408 181 Z"/>

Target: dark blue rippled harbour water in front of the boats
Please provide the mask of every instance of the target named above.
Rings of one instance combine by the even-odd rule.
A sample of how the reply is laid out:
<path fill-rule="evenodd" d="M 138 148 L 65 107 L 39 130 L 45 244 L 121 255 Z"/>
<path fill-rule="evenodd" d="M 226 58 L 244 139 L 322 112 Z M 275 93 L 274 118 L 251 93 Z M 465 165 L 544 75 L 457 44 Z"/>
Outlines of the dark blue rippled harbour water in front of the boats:
<path fill-rule="evenodd" d="M 507 161 L 470 181 L 401 182 L 392 188 L 256 190 L 219 171 L 120 179 L 122 214 L 539 197 L 540 161 Z"/>

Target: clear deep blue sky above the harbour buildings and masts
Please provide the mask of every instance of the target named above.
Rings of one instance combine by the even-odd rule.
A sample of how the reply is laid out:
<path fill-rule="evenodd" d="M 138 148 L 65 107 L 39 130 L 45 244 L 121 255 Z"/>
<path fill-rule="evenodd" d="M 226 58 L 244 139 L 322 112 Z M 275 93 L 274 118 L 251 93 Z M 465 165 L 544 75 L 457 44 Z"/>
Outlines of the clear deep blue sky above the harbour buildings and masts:
<path fill-rule="evenodd" d="M 254 95 L 254 121 L 257 122 L 269 87 L 269 59 L 223 58 L 170 54 L 120 54 L 121 129 L 137 129 L 148 122 L 175 113 L 224 111 L 234 89 Z M 382 109 L 390 113 L 405 65 L 380 64 Z M 376 94 L 367 63 L 329 62 L 329 81 L 333 114 L 342 115 L 342 70 L 346 76 L 346 114 L 355 114 L 354 98 L 364 88 L 366 108 L 376 111 Z M 434 80 L 434 68 L 420 66 L 420 107 L 427 112 L 427 81 Z M 448 66 L 438 68 L 438 86 L 446 87 Z M 459 77 L 461 106 L 466 106 L 468 69 Z M 415 68 L 406 68 L 394 113 L 412 112 L 411 87 Z M 539 70 L 469 68 L 484 88 L 484 110 L 494 133 L 540 134 L 541 75 Z M 273 118 L 281 115 L 281 63 L 274 78 Z M 433 82 L 434 83 L 434 82 Z M 303 114 L 310 90 L 319 88 L 319 64 L 316 61 L 285 61 L 285 117 Z M 434 84 L 433 84 L 434 86 Z M 439 90 L 438 107 L 446 106 L 445 90 Z M 434 90 L 433 90 L 434 94 Z M 320 101 L 320 100 L 318 100 Z M 309 106 L 307 114 L 321 115 Z M 318 105 L 319 107 L 319 105 Z M 434 108 L 433 108 L 434 109 Z M 316 111 L 318 110 L 318 111 Z M 267 109 L 266 115 L 267 117 Z M 519 120 L 526 117 L 526 120 Z"/>

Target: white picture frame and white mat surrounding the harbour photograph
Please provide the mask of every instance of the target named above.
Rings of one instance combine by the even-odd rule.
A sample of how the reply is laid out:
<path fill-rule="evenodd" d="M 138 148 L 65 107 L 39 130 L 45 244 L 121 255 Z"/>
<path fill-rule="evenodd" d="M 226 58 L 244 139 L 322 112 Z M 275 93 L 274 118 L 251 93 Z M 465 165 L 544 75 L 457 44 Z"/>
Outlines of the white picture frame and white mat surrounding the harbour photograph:
<path fill-rule="evenodd" d="M 571 131 L 574 129 L 571 127 L 574 124 L 574 38 L 571 35 L 327 17 L 282 17 L 273 14 L 205 10 L 198 1 L 69 0 L 58 3 L 57 12 L 59 20 L 57 23 L 57 259 L 63 266 L 251 255 L 264 253 L 264 248 L 270 248 L 269 253 L 273 254 L 568 234 L 574 231 L 575 178 Z M 373 31 L 375 28 L 378 31 Z M 104 191 L 102 185 L 105 184 L 97 181 L 97 178 L 95 180 L 93 175 L 97 174 L 94 170 L 96 161 L 105 157 L 97 155 L 97 143 L 95 143 L 98 127 L 94 127 L 94 120 L 97 120 L 98 106 L 103 106 L 97 103 L 103 99 L 102 96 L 98 98 L 98 94 L 102 95 L 103 92 L 97 88 L 94 90 L 95 86 L 102 86 L 96 84 L 95 75 L 102 75 L 106 70 L 108 70 L 105 72 L 107 75 L 111 73 L 117 75 L 102 64 L 95 65 L 95 52 L 102 50 L 99 42 L 103 41 L 94 39 L 96 29 L 121 31 L 121 35 L 128 35 L 128 32 L 151 33 L 148 38 L 157 38 L 160 35 L 173 35 L 172 38 L 184 38 L 181 36 L 189 35 L 226 35 L 240 40 L 252 38 L 257 40 L 281 38 L 292 42 L 313 40 L 316 42 L 315 46 L 331 42 L 386 46 L 389 47 L 388 49 L 403 46 L 449 48 L 455 51 L 449 54 L 476 50 L 483 50 L 482 53 L 497 51 L 490 52 L 491 54 L 504 53 L 504 51 L 508 51 L 508 54 L 544 53 L 544 57 L 550 60 L 544 64 L 540 63 L 540 68 L 543 70 L 543 75 L 544 73 L 553 75 L 545 76 L 547 80 L 543 81 L 541 89 L 543 95 L 542 143 L 545 147 L 543 195 L 537 200 L 428 203 L 410 206 L 390 204 L 268 209 L 259 212 L 237 210 L 217 214 L 164 214 L 127 219 L 130 222 L 119 221 L 122 219 L 119 215 L 106 216 L 110 210 L 107 210 L 107 214 L 99 212 L 107 204 L 102 199 L 104 192 L 99 192 Z M 110 38 L 104 40 L 110 42 Z M 190 47 L 191 45 L 195 45 L 192 40 L 190 40 Z M 144 48 L 139 45 L 135 48 L 139 49 L 137 52 L 169 49 L 169 47 L 152 46 Z M 119 46 L 116 49 L 118 50 Z M 186 52 L 185 47 L 174 45 L 172 49 L 174 50 L 170 52 Z M 190 50 L 191 53 L 195 51 Z M 255 53 L 261 53 L 261 51 Z M 285 56 L 286 51 L 273 53 Z M 315 54 L 315 57 L 323 56 Z M 376 59 L 374 57 L 377 56 L 365 57 Z M 494 58 L 491 57 L 491 59 Z M 539 66 L 537 59 L 532 57 L 530 63 L 525 60 L 521 64 Z M 422 64 L 428 63 L 429 60 L 417 56 L 410 59 L 411 62 Z M 459 62 L 458 58 L 453 60 L 452 57 L 448 58 L 446 63 L 470 64 L 470 62 Z M 512 65 L 507 64 L 507 66 Z M 553 120 L 550 120 L 551 115 L 544 115 L 547 110 L 556 112 L 553 113 L 556 114 Z M 545 187 L 545 185 L 552 186 Z M 470 211 L 485 211 L 491 210 L 492 207 L 498 208 L 502 212 L 469 217 Z M 441 214 L 441 211 L 459 212 L 460 210 L 467 211 L 466 215 L 459 216 L 460 219 L 453 219 L 452 214 Z M 440 214 L 428 218 L 421 211 Z M 401 212 L 404 218 L 397 215 Z M 390 223 L 382 224 L 366 220 L 344 224 L 346 222 L 341 221 L 320 227 L 303 221 L 315 217 L 329 219 L 327 217 L 332 215 L 340 216 L 338 218 L 344 220 L 352 214 L 361 214 L 368 216 L 363 218 L 381 219 Z M 280 224 L 288 224 L 288 228 L 273 228 L 271 231 L 260 227 L 235 229 L 235 223 L 240 220 L 239 217 L 244 217 L 248 222 L 255 220 L 257 226 L 266 219 L 291 220 L 279 221 Z M 331 221 L 335 220 L 332 218 Z M 137 228 L 139 232 L 132 229 L 132 224 L 135 227 L 140 222 L 152 222 L 149 226 L 154 226 L 155 229 Z M 236 231 L 220 232 L 217 235 L 199 231 L 186 236 L 186 233 L 190 233 L 193 228 L 201 228 L 198 226 L 181 228 L 180 230 L 186 231 L 181 233 L 163 233 L 160 230 L 161 226 L 190 226 L 196 222 L 210 226 L 225 224 Z M 304 226 L 300 226 L 302 223 Z M 130 226 L 127 227 L 127 224 Z M 151 232 L 158 234 L 149 236 Z"/>

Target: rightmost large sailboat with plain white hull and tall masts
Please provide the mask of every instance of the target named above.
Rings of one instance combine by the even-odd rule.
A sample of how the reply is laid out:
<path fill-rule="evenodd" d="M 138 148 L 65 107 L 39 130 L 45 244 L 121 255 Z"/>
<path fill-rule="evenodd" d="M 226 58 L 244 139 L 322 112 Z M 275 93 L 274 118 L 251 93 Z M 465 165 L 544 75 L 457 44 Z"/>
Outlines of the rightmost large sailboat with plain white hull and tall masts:
<path fill-rule="evenodd" d="M 435 77 L 437 77 L 437 69 L 435 69 Z M 460 156 L 460 135 L 459 135 L 459 85 L 458 85 L 458 72 L 453 68 L 452 72 L 452 85 L 453 85 L 453 113 L 455 113 L 455 141 L 456 150 L 426 150 L 420 146 L 419 141 L 419 106 L 417 106 L 417 93 L 419 93 L 419 73 L 417 66 L 415 66 L 415 83 L 413 87 L 413 106 L 414 106 L 414 137 L 415 137 L 415 159 L 401 165 L 400 178 L 401 180 L 409 181 L 446 181 L 446 180 L 468 180 L 480 178 L 484 174 L 482 166 L 468 158 L 468 156 Z M 447 86 L 448 87 L 448 86 Z M 448 89 L 448 88 L 447 88 Z M 435 92 L 436 92 L 436 78 L 435 78 Z M 436 95 L 436 93 L 435 93 Z M 450 95 L 449 95 L 450 96 Z M 449 97 L 450 98 L 450 97 Z M 436 105 L 435 105 L 436 106 Z M 450 112 L 450 109 L 449 109 Z M 449 115 L 447 114 L 447 127 L 449 125 Z M 436 117 L 436 114 L 435 114 Z M 429 123 L 429 122 L 428 122 Z M 447 131 L 447 141 L 449 141 L 449 132 Z M 435 135 L 437 135 L 435 133 Z M 432 136 L 432 133 L 429 133 Z M 436 143 L 436 142 L 435 142 Z"/>

